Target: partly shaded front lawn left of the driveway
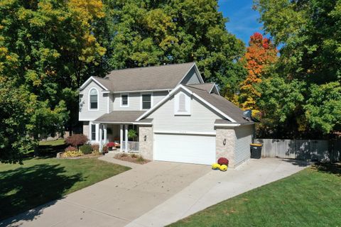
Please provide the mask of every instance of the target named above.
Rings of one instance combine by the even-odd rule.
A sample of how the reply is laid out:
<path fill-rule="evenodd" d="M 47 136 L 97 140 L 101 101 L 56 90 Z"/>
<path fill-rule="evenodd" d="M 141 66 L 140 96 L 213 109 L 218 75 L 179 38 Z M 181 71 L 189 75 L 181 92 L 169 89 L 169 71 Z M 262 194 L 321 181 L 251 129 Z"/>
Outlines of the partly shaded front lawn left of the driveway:
<path fill-rule="evenodd" d="M 0 220 L 129 170 L 97 159 L 28 158 L 0 164 Z"/>

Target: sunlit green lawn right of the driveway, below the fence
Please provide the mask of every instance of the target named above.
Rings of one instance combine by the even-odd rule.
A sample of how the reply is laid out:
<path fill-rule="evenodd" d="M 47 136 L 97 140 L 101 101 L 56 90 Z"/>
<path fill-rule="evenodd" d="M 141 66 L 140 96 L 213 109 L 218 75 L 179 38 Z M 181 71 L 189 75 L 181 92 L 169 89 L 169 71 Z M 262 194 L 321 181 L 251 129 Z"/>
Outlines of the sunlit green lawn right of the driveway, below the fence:
<path fill-rule="evenodd" d="M 341 226 L 341 165 L 316 165 L 171 226 Z"/>

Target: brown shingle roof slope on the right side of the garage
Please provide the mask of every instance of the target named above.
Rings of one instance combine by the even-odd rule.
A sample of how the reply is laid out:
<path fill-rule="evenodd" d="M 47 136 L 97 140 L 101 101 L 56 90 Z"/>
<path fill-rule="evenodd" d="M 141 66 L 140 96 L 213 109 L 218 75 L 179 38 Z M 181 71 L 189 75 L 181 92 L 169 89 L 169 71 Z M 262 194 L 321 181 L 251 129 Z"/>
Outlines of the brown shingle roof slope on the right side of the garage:
<path fill-rule="evenodd" d="M 228 101 L 224 97 L 217 94 L 209 94 L 205 90 L 197 89 L 195 87 L 191 86 L 185 87 L 187 87 L 188 89 L 190 89 L 190 91 L 200 96 L 202 99 L 208 101 L 210 104 L 212 104 L 212 106 L 215 106 L 215 108 L 222 111 L 224 114 L 232 118 L 234 121 L 237 121 L 238 123 L 253 122 L 252 120 L 247 120 L 247 118 L 245 118 L 243 115 L 243 111 L 239 109 L 238 106 L 232 104 L 231 101 Z"/>

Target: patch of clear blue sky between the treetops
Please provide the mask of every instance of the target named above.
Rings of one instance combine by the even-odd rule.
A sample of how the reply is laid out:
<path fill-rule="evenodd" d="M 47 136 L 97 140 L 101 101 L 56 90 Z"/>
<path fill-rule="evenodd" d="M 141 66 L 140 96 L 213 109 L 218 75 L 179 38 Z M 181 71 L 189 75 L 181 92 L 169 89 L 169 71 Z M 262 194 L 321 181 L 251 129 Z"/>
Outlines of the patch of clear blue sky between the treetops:
<path fill-rule="evenodd" d="M 227 31 L 243 40 L 246 45 L 253 33 L 263 34 L 262 25 L 257 21 L 259 13 L 251 8 L 252 0 L 219 0 L 218 5 L 218 10 L 229 18 L 226 23 Z"/>

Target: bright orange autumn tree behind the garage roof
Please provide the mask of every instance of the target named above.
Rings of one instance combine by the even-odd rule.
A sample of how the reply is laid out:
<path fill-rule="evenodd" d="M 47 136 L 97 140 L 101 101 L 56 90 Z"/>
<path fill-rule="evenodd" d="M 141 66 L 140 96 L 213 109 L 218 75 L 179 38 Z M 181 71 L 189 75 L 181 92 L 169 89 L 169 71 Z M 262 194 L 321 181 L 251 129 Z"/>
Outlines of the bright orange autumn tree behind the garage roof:
<path fill-rule="evenodd" d="M 249 47 L 242 59 L 248 74 L 240 86 L 239 96 L 234 100 L 242 109 L 257 110 L 255 100 L 261 94 L 257 92 L 255 85 L 261 82 L 266 69 L 273 65 L 277 58 L 277 49 L 271 40 L 263 37 L 261 33 L 250 36 Z"/>

